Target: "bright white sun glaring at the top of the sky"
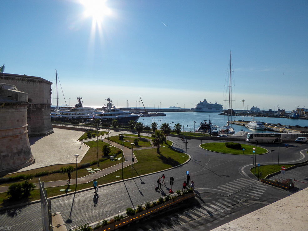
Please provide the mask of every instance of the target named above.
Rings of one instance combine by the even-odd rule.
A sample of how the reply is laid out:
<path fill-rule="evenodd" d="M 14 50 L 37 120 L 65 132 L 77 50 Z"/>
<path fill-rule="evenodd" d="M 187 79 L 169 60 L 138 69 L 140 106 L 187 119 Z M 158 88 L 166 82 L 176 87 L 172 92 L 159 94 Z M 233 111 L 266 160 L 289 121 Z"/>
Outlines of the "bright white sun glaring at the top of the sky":
<path fill-rule="evenodd" d="M 93 23 L 100 24 L 103 22 L 104 16 L 111 13 L 110 9 L 106 6 L 107 0 L 80 0 L 84 6 L 85 17 L 92 17 Z"/>

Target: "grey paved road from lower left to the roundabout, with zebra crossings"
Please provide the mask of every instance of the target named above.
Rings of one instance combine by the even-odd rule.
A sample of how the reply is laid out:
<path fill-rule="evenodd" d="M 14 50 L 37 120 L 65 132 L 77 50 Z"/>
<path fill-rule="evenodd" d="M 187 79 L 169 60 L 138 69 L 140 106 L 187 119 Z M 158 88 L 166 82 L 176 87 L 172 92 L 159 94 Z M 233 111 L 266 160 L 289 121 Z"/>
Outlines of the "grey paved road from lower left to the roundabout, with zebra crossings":
<path fill-rule="evenodd" d="M 174 148 L 184 150 L 185 143 L 183 141 L 174 137 L 170 139 L 174 141 Z M 191 179 L 195 182 L 198 194 L 195 202 L 187 208 L 188 212 L 184 208 L 182 212 L 176 211 L 175 215 L 171 215 L 174 217 L 171 220 L 174 220 L 174 224 L 180 225 L 180 227 L 183 225 L 176 220 L 176 216 L 185 225 L 192 224 L 199 227 L 200 225 L 196 225 L 199 222 L 204 223 L 204 227 L 210 230 L 292 193 L 255 180 L 253 175 L 247 171 L 252 166 L 252 156 L 210 152 L 200 148 L 199 145 L 200 140 L 188 140 L 187 153 L 191 156 L 191 160 L 187 164 L 164 172 L 104 186 L 100 188 L 97 198 L 94 198 L 91 189 L 52 199 L 52 213 L 61 212 L 68 229 L 80 225 L 80 223 L 94 223 L 114 217 L 114 215 L 124 213 L 128 207 L 136 207 L 167 194 L 169 192 L 168 180 L 166 180 L 166 185 L 162 186 L 162 190 L 154 190 L 157 185 L 156 180 L 162 173 L 165 174 L 166 179 L 174 177 L 173 191 L 182 189 L 186 171 L 189 171 Z M 278 144 L 259 145 L 269 150 L 275 149 L 275 151 L 258 155 L 257 163 L 277 162 Z M 307 145 L 299 144 L 289 144 L 288 148 L 281 146 L 280 162 L 293 163 L 306 160 L 307 157 L 300 151 L 307 147 Z M 298 189 L 294 189 L 294 192 L 296 190 Z M 177 213 L 178 215 L 176 215 Z M 40 214 L 40 204 L 35 203 L 22 208 L 2 211 L 0 222 L 2 226 L 12 227 L 15 230 L 42 230 Z M 207 219 L 204 219 L 202 214 Z M 174 227 L 174 225 L 170 224 L 168 227 Z M 146 229 L 142 228 L 142 230 Z"/>

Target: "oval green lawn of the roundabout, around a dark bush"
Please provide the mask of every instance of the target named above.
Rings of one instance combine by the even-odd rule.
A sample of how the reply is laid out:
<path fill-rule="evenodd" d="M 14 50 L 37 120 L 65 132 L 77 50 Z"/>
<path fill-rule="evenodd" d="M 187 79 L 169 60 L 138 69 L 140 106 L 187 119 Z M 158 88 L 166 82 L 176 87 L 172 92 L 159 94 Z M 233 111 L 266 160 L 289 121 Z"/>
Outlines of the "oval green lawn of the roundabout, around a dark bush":
<path fill-rule="evenodd" d="M 253 155 L 253 148 L 255 148 L 255 145 L 249 145 L 249 144 L 241 144 L 241 149 L 233 149 L 233 148 L 227 148 L 225 146 L 225 143 L 220 142 L 213 142 L 213 143 L 203 143 L 201 144 L 201 148 L 215 151 L 219 153 L 229 153 L 229 154 L 237 154 L 237 155 Z M 243 151 L 243 148 L 245 149 Z M 267 150 L 265 148 L 258 147 L 256 148 L 255 154 L 264 154 L 267 153 Z"/>

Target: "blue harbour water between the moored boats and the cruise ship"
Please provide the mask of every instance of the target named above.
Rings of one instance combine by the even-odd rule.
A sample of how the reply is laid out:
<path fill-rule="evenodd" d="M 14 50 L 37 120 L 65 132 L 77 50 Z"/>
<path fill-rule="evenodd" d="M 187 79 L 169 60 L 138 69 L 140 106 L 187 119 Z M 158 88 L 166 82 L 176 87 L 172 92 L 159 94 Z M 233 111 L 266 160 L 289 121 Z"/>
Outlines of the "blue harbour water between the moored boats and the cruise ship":
<path fill-rule="evenodd" d="M 151 126 L 151 123 L 154 121 L 158 124 L 158 128 L 160 128 L 162 123 L 169 123 L 171 128 L 174 127 L 174 124 L 180 123 L 184 125 L 184 131 L 194 131 L 197 129 L 201 122 L 204 120 L 210 120 L 212 124 L 215 124 L 219 127 L 225 126 L 228 121 L 228 116 L 219 115 L 217 113 L 206 113 L 206 112 L 167 112 L 166 116 L 155 116 L 155 117 L 140 117 L 138 122 L 144 124 L 144 126 Z M 230 116 L 230 120 L 241 120 L 242 116 Z M 244 121 L 250 121 L 253 117 L 244 116 Z M 272 117 L 255 117 L 257 121 L 264 123 L 281 123 L 285 126 L 295 126 L 300 125 L 301 127 L 308 126 L 308 120 L 306 119 L 288 119 L 288 118 L 272 118 Z M 246 132 L 269 132 L 273 133 L 273 131 L 260 131 L 255 129 L 246 128 L 245 126 L 232 124 L 234 127 L 235 133 L 240 132 L 241 130 Z"/>

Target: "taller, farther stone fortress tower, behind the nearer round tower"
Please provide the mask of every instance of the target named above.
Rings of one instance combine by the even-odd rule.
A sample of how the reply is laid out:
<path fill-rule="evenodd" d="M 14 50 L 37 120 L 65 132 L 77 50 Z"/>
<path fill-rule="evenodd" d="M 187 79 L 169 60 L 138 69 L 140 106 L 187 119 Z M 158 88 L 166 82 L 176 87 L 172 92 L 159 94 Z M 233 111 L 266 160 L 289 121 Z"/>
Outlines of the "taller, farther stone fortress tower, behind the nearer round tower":
<path fill-rule="evenodd" d="M 53 133 L 50 119 L 52 82 L 40 77 L 1 73 L 0 83 L 14 85 L 18 91 L 28 94 L 28 136 Z"/>

